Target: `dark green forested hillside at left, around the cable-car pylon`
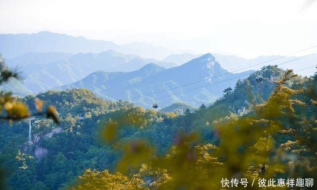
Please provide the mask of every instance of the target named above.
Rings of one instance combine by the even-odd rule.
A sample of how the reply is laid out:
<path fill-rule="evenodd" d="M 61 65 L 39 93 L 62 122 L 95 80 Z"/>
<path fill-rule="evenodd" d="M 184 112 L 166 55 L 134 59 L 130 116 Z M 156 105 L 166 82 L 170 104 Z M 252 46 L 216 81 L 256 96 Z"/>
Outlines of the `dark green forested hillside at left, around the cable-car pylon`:
<path fill-rule="evenodd" d="M 36 97 L 57 107 L 61 124 L 56 126 L 51 120 L 32 122 L 32 144 L 27 143 L 27 121 L 1 125 L 0 160 L 9 171 L 7 183 L 11 189 L 54 190 L 86 168 L 113 168 L 120 153 L 99 139 L 99 127 L 109 118 L 131 112 L 146 114 L 156 123 L 173 116 L 144 110 L 126 101 L 106 101 L 88 90 L 49 91 Z M 33 108 L 31 111 L 35 111 L 34 98 L 23 98 Z M 80 116 L 84 121 L 79 120 Z M 130 138 L 134 132 L 125 133 Z"/>

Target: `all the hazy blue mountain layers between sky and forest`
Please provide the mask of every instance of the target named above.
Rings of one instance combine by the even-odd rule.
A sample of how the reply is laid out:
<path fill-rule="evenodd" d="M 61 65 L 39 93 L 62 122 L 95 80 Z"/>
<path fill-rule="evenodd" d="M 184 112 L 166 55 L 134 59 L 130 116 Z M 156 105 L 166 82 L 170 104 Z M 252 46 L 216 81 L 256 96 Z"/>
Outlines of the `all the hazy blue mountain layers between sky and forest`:
<path fill-rule="evenodd" d="M 119 46 L 112 42 L 52 32 L 0 34 L 0 52 L 10 68 L 22 71 L 23 79 L 10 81 L 1 87 L 2 90 L 10 90 L 23 96 L 50 89 L 87 88 L 107 99 L 127 99 L 145 107 L 150 107 L 155 98 L 162 98 L 161 96 L 167 99 L 158 100 L 163 102 L 162 106 L 175 102 L 186 102 L 192 106 L 211 103 L 225 88 L 233 87 L 238 80 L 236 76 L 239 73 L 230 72 L 239 70 L 238 72 L 249 73 L 249 70 L 260 69 L 264 65 L 279 64 L 296 58 L 289 56 L 265 62 L 280 55 L 253 59 L 217 53 L 202 56 L 175 53 L 145 43 Z M 261 62 L 264 63 L 258 64 Z M 316 62 L 317 57 L 312 56 L 281 65 L 281 68 L 293 68 L 296 72 L 303 65 L 311 66 Z M 250 67 L 254 64 L 258 65 Z M 195 84 L 192 87 L 145 96 L 224 73 L 226 77 L 216 77 L 211 82 L 202 83 L 212 84 L 227 80 L 211 87 L 191 90 L 190 88 L 199 88 L 200 84 Z M 314 71 L 305 70 L 299 74 L 312 73 Z M 230 77 L 234 79 L 229 80 Z M 138 96 L 140 97 L 136 98 Z"/>

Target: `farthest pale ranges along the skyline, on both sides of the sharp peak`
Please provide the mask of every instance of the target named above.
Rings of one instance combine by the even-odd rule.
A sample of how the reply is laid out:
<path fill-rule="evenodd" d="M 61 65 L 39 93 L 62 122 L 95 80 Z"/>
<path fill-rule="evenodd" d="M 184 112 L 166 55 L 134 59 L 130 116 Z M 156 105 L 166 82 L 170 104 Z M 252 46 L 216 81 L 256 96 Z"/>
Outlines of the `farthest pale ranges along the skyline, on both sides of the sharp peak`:
<path fill-rule="evenodd" d="M 15 59 L 18 56 L 29 56 L 28 53 L 43 53 L 38 55 L 37 59 L 34 60 L 34 63 L 48 63 L 46 56 L 47 54 L 51 54 L 51 57 L 55 56 L 55 58 L 51 58 L 52 61 L 59 61 L 62 59 L 68 58 L 71 54 L 77 53 L 101 53 L 103 51 L 113 50 L 121 54 L 135 54 L 142 58 L 150 58 L 157 59 L 160 62 L 164 62 L 164 65 L 159 64 L 160 66 L 164 66 L 166 68 L 170 68 L 176 65 L 181 65 L 185 62 L 188 62 L 194 58 L 201 56 L 202 54 L 192 54 L 186 51 L 173 51 L 163 47 L 153 46 L 147 43 L 134 42 L 130 44 L 117 45 L 113 42 L 103 41 L 103 40 L 89 40 L 82 36 L 73 37 L 66 34 L 52 33 L 48 31 L 43 31 L 35 34 L 0 34 L 0 53 L 5 59 Z M 294 50 L 298 50 L 294 48 Z M 212 52 L 212 51 L 211 51 Z M 60 54 L 62 53 L 62 54 Z M 303 51 L 303 54 L 308 54 L 309 51 Z M 33 55 L 34 57 L 35 55 Z M 63 57 L 64 56 L 64 57 Z M 256 58 L 246 59 L 243 57 L 239 57 L 236 55 L 225 55 L 219 53 L 213 53 L 213 56 L 221 63 L 221 66 L 224 69 L 227 69 L 230 72 L 233 72 L 237 69 L 246 68 L 250 65 L 258 64 L 267 60 L 275 59 L 277 57 L 281 57 L 281 55 L 270 55 L 270 56 L 259 56 Z M 271 60 L 269 62 L 265 62 L 263 64 L 258 64 L 251 69 L 257 70 L 262 66 L 267 64 L 278 64 L 284 61 L 288 61 L 298 57 L 299 54 L 294 54 L 294 56 L 283 56 L 280 59 Z M 18 61 L 18 60 L 16 60 Z M 21 63 L 24 64 L 26 60 L 20 60 Z M 316 64 L 317 56 L 311 56 L 305 59 L 301 59 L 298 61 L 294 61 L 292 63 L 287 63 L 281 66 L 281 68 L 286 69 L 294 69 L 301 70 L 303 65 L 311 66 Z M 156 62 L 153 62 L 156 63 Z M 87 63 L 88 64 L 88 63 Z M 121 67 L 121 70 L 116 71 L 124 71 L 124 67 Z M 139 68 L 137 68 L 139 69 Z M 249 68 L 246 68 L 241 71 L 246 71 Z M 106 70 L 112 71 L 112 70 Z M 130 70 L 131 71 L 131 70 Z M 305 70 L 298 72 L 300 75 L 313 75 L 314 71 Z"/>

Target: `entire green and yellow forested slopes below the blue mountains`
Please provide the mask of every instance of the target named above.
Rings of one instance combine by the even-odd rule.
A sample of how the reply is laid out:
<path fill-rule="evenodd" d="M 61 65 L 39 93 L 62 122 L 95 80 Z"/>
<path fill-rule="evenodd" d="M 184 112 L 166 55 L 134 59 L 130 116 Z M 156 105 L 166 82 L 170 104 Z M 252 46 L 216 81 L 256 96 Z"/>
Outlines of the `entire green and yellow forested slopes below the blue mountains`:
<path fill-rule="evenodd" d="M 230 178 L 239 171 L 246 178 L 259 178 L 262 162 L 268 176 L 274 167 L 284 167 L 279 175 L 289 175 L 287 156 L 282 163 L 269 161 L 279 147 L 283 154 L 297 157 L 294 165 L 307 163 L 311 172 L 303 169 L 295 177 L 316 176 L 316 76 L 293 77 L 277 66 L 263 67 L 261 73 L 262 83 L 252 74 L 233 89 L 225 89 L 210 106 L 202 105 L 184 115 L 145 110 L 126 101 L 106 101 L 84 89 L 37 95 L 56 107 L 60 124 L 50 119 L 32 122 L 31 144 L 27 143 L 27 122 L 1 124 L 0 163 L 7 171 L 6 189 L 72 186 L 75 190 L 101 190 L 111 183 L 117 190 L 177 189 L 182 185 L 219 189 L 219 178 Z M 34 99 L 31 95 L 22 99 L 32 112 L 36 111 Z M 241 131 L 236 131 L 237 127 Z M 244 151 L 240 145 L 248 148 Z M 265 146 L 269 151 L 261 149 Z M 235 148 L 241 152 L 236 154 Z M 241 160 L 252 160 L 252 152 L 258 159 L 252 168 L 239 165 Z M 219 174 L 214 176 L 214 172 Z M 189 180 L 194 176 L 196 180 Z"/>

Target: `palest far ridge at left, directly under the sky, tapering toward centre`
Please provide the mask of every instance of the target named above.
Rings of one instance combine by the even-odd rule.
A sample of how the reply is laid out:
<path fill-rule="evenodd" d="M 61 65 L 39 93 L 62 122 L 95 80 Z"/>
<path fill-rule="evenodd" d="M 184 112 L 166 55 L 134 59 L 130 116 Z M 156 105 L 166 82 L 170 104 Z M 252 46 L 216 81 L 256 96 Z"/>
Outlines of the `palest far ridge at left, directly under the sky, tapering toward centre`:
<path fill-rule="evenodd" d="M 89 40 L 83 36 L 73 37 L 48 31 L 35 34 L 0 34 L 0 42 L 0 52 L 5 58 L 14 58 L 28 52 L 100 53 L 112 49 L 124 54 L 162 59 L 175 52 L 147 43 L 117 45 L 109 41 Z"/>

